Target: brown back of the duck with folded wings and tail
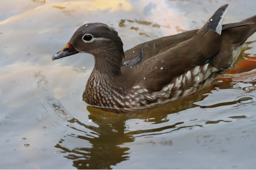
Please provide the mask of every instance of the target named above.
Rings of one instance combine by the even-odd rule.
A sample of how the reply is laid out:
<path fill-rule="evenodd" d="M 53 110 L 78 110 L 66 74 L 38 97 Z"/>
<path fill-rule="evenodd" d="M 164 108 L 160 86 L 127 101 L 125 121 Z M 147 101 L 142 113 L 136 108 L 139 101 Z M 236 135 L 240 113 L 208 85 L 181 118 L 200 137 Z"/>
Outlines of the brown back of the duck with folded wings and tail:
<path fill-rule="evenodd" d="M 217 74 L 225 71 L 239 47 L 256 31 L 256 17 L 222 27 L 226 9 L 227 5 L 220 7 L 200 30 L 158 38 L 125 51 L 123 73 L 133 77 L 131 84 L 157 92 L 196 66 L 210 64 Z"/>

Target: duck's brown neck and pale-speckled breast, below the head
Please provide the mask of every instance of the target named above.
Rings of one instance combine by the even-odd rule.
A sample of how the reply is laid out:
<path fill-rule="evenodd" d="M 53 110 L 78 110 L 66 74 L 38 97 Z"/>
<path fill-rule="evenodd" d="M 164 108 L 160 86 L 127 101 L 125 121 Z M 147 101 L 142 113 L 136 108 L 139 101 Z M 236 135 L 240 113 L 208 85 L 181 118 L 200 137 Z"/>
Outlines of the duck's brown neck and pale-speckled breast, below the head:
<path fill-rule="evenodd" d="M 122 54 L 106 49 L 94 54 L 95 66 L 86 84 L 83 100 L 90 105 L 110 106 L 109 101 L 126 92 L 125 76 L 121 72 Z"/>

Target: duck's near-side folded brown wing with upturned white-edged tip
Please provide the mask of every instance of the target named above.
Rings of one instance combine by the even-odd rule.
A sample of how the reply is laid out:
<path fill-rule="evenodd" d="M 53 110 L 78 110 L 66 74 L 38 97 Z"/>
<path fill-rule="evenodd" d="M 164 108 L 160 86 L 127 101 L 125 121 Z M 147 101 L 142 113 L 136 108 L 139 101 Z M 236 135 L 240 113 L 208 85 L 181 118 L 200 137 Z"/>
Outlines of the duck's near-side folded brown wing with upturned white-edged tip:
<path fill-rule="evenodd" d="M 160 91 L 173 78 L 198 65 L 213 63 L 221 47 L 220 34 L 227 6 L 221 6 L 190 39 L 162 49 L 133 68 L 135 75 L 144 74 L 140 76 L 144 79 L 135 80 L 135 83 L 151 92 Z"/>

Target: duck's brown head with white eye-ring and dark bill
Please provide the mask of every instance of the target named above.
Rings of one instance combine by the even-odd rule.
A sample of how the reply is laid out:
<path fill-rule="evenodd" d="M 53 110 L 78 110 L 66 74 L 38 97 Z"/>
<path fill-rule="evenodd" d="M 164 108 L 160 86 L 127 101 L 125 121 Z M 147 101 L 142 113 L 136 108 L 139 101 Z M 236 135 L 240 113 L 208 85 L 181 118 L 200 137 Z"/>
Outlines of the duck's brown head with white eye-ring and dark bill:
<path fill-rule="evenodd" d="M 106 51 L 116 52 L 123 58 L 123 43 L 114 28 L 103 23 L 88 23 L 75 31 L 66 46 L 52 60 L 64 58 L 77 53 L 88 53 L 102 56 Z"/>

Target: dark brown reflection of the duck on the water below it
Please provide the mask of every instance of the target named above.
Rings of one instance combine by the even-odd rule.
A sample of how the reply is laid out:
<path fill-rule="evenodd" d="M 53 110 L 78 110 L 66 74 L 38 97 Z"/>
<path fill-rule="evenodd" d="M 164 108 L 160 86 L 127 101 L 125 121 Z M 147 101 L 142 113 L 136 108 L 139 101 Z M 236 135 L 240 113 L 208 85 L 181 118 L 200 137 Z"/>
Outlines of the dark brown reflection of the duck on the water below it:
<path fill-rule="evenodd" d="M 67 121 L 71 124 L 77 123 L 81 125 L 81 128 L 79 129 L 68 125 L 68 127 L 79 132 L 84 132 L 84 130 L 81 130 L 84 128 L 93 131 L 91 134 L 84 132 L 85 135 L 83 136 L 75 136 L 73 134 L 69 135 L 86 140 L 90 142 L 92 146 L 67 148 L 63 142 L 57 144 L 55 147 L 60 148 L 62 153 L 66 153 L 67 155 L 64 157 L 73 160 L 73 166 L 77 169 L 112 169 L 111 166 L 129 159 L 130 148 L 122 146 L 124 143 L 133 142 L 135 140 L 135 136 L 138 134 L 143 135 L 144 133 L 148 132 L 160 132 L 166 129 L 173 131 L 175 129 L 182 128 L 176 127 L 176 125 L 184 123 L 182 120 L 174 125 L 167 123 L 169 121 L 168 115 L 192 107 L 197 107 L 197 105 L 194 105 L 193 103 L 203 100 L 203 98 L 206 97 L 203 96 L 203 94 L 205 94 L 206 91 L 209 92 L 209 90 L 212 88 L 213 86 L 205 88 L 203 91 L 192 96 L 188 96 L 187 98 L 175 102 L 174 104 L 163 106 L 141 114 L 112 114 L 88 106 L 87 110 L 90 112 L 90 115 L 88 116 L 89 119 L 91 119 L 99 127 L 86 125 L 75 118 Z M 127 127 L 126 122 L 130 119 L 141 119 L 146 122 L 151 122 L 151 124 L 167 124 L 162 125 L 161 128 L 129 131 L 129 127 Z"/>

